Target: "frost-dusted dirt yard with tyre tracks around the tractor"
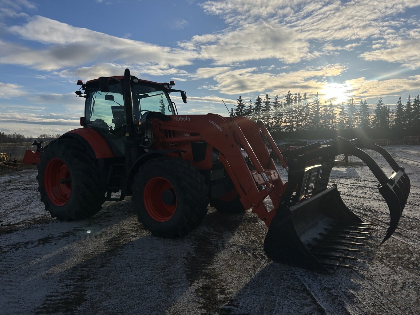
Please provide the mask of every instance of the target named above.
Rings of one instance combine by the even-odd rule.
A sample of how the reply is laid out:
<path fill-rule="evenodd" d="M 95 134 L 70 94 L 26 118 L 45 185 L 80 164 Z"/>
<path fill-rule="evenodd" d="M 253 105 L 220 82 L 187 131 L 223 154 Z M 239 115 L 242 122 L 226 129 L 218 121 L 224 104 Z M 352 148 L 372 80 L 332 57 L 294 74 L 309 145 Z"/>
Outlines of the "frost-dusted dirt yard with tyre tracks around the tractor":
<path fill-rule="evenodd" d="M 60 222 L 39 201 L 36 168 L 0 176 L 1 314 L 419 314 L 420 147 L 386 147 L 411 179 L 394 235 L 369 169 L 356 158 L 331 182 L 375 231 L 353 269 L 332 275 L 268 260 L 267 228 L 249 210 L 209 207 L 188 236 L 151 236 L 130 198 Z M 388 164 L 374 155 L 390 174 Z M 286 173 L 281 176 L 286 178 Z"/>

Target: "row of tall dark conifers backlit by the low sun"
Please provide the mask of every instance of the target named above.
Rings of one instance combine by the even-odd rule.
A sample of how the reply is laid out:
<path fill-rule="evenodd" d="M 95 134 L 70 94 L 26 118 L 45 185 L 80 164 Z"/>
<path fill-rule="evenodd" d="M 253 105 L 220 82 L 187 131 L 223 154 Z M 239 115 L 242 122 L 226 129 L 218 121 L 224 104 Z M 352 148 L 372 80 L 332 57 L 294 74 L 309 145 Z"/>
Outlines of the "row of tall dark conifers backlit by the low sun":
<path fill-rule="evenodd" d="M 307 93 L 287 92 L 283 99 L 268 94 L 255 102 L 244 101 L 239 95 L 237 104 L 231 108 L 230 116 L 246 116 L 260 120 L 270 132 L 352 130 L 352 129 L 418 129 L 420 127 L 419 96 L 408 97 L 403 104 L 401 97 L 395 108 L 384 104 L 379 98 L 373 110 L 366 100 L 357 103 L 354 98 L 347 103 L 333 104 L 322 101 L 316 93 L 309 99 Z"/>

